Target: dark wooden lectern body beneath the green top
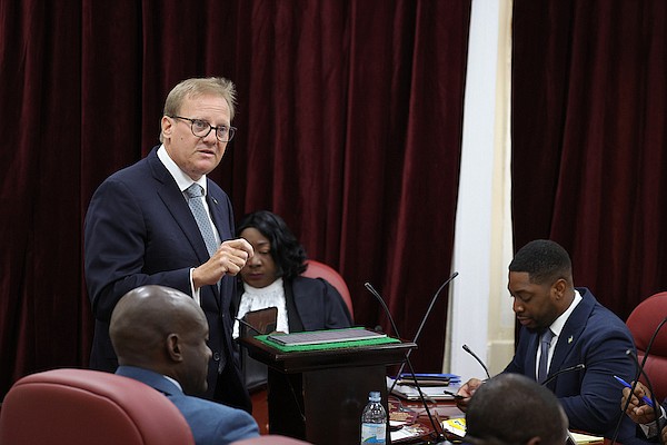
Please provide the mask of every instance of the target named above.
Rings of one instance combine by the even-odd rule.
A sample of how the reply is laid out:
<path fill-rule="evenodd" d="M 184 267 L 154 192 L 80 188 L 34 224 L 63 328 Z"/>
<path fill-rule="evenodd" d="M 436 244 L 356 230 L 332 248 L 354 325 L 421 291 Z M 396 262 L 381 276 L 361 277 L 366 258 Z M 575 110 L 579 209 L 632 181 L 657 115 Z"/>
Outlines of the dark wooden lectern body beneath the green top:
<path fill-rule="evenodd" d="M 252 337 L 240 338 L 249 355 L 285 374 L 303 374 L 306 439 L 318 445 L 355 444 L 368 393 L 379 390 L 387 408 L 387 365 L 399 364 L 409 342 L 283 353 Z"/>

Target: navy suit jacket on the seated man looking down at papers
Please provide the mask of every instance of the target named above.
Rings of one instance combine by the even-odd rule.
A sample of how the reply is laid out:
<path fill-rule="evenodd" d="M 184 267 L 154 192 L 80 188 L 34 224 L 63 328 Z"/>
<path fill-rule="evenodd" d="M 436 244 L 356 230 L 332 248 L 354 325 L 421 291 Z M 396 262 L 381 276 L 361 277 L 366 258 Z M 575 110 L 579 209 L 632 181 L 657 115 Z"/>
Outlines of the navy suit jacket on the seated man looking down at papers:
<path fill-rule="evenodd" d="M 549 376 L 557 370 L 584 364 L 584 370 L 564 373 L 547 384 L 563 405 L 569 427 L 593 434 L 614 435 L 621 416 L 623 386 L 614 375 L 630 382 L 634 363 L 626 350 L 635 344 L 625 323 L 600 305 L 587 288 L 577 288 L 583 300 L 566 322 L 549 366 Z M 539 334 L 521 327 L 519 344 L 506 373 L 524 374 L 535 379 L 536 354 Z M 635 442 L 635 426 L 629 417 L 624 421 L 618 435 L 623 444 Z"/>

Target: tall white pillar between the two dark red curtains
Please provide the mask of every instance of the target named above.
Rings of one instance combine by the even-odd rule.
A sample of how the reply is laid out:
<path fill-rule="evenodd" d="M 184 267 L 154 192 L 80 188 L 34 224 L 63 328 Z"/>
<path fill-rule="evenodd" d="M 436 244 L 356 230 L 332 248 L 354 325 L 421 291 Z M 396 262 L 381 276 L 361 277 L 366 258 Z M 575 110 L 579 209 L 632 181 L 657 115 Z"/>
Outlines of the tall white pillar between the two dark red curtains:
<path fill-rule="evenodd" d="M 510 0 L 472 0 L 464 134 L 444 369 L 484 377 L 514 354 L 507 293 L 511 259 L 509 177 Z"/>

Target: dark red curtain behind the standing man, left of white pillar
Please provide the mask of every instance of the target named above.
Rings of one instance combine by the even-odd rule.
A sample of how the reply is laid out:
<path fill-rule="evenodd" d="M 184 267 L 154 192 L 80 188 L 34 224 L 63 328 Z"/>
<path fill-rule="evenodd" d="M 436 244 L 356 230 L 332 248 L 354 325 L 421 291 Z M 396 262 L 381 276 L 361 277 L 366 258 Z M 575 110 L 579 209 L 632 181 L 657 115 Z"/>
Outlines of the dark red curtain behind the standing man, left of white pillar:
<path fill-rule="evenodd" d="M 211 175 L 237 219 L 282 215 L 342 273 L 358 324 L 390 329 L 369 280 L 411 338 L 450 269 L 469 14 L 469 0 L 0 0 L 0 396 L 86 366 L 88 202 L 158 144 L 165 96 L 193 76 L 238 87 Z M 440 367 L 445 315 L 441 299 L 419 369 Z"/>

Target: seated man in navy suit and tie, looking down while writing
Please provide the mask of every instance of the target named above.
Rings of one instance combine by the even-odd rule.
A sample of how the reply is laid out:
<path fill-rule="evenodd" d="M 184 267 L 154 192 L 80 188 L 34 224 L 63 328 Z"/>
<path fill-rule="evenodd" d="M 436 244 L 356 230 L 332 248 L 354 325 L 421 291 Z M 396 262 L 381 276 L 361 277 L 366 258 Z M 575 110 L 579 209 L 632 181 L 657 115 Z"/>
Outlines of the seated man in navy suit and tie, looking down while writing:
<path fill-rule="evenodd" d="M 634 363 L 626 354 L 635 350 L 633 337 L 589 289 L 575 287 L 568 253 L 551 240 L 528 243 L 509 265 L 507 287 L 521 329 L 504 373 L 522 374 L 551 389 L 571 429 L 611 437 L 621 422 L 618 442 L 637 443 L 635 426 L 618 409 L 621 387 L 614 378 L 633 378 Z M 472 378 L 461 386 L 459 408 L 466 409 L 480 385 Z"/>

